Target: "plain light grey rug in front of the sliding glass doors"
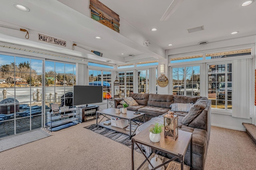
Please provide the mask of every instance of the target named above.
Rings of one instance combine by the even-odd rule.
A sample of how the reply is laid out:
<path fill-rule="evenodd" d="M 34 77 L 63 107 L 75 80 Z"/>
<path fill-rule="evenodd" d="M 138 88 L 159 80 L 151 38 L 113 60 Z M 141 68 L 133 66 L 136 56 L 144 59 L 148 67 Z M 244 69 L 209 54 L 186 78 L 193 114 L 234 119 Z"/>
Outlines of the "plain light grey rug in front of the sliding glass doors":
<path fill-rule="evenodd" d="M 0 152 L 34 142 L 36 140 L 51 136 L 49 132 L 43 129 L 33 130 L 23 134 L 17 134 L 10 137 L 0 139 Z"/>

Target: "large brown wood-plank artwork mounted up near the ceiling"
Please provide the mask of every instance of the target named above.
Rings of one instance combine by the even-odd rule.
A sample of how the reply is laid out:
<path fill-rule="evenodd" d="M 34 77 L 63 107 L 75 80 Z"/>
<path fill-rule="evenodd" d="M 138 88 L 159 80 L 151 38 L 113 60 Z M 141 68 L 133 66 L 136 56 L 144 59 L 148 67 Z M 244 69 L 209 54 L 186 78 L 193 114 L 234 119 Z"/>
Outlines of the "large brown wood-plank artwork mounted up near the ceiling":
<path fill-rule="evenodd" d="M 119 32 L 119 15 L 98 0 L 90 0 L 91 18 Z"/>

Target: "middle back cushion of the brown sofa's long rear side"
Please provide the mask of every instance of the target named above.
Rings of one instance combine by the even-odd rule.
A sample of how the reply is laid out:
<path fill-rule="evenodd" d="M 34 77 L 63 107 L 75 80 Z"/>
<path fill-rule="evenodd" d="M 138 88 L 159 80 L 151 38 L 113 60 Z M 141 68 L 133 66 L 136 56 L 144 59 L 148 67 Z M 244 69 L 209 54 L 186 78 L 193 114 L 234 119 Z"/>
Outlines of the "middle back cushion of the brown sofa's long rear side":
<path fill-rule="evenodd" d="M 150 94 L 148 97 L 148 106 L 170 108 L 173 103 L 174 95 Z"/>

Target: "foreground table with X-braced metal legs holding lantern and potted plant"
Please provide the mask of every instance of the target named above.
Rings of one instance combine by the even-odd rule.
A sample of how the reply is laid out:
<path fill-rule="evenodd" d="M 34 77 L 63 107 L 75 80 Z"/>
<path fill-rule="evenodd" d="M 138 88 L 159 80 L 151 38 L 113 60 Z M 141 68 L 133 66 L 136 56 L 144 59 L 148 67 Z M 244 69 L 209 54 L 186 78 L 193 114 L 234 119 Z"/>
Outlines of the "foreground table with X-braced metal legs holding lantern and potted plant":
<path fill-rule="evenodd" d="M 152 166 L 154 169 L 160 168 L 161 166 L 173 161 L 180 160 L 180 169 L 192 169 L 192 133 L 186 132 L 183 130 L 178 130 L 178 138 L 174 141 L 169 138 L 164 138 L 164 132 L 161 133 L 161 139 L 159 142 L 151 142 L 149 138 L 149 129 L 150 127 L 154 127 L 154 125 L 150 125 L 148 128 L 142 130 L 139 134 L 132 137 L 132 170 L 134 170 L 134 144 L 138 146 L 142 154 L 145 156 L 146 160 L 139 166 L 139 169 L 144 169 L 143 167 L 148 167 L 148 164 L 152 166 L 150 163 L 151 154 L 157 150 L 156 154 L 161 151 L 167 154 L 171 154 L 174 158 L 167 160 L 159 166 Z M 186 154 L 186 150 L 188 148 L 188 144 L 190 142 L 190 167 L 184 165 L 184 156 Z M 145 146 L 149 146 L 151 148 L 151 154 L 147 157 L 139 144 L 143 144 Z"/>

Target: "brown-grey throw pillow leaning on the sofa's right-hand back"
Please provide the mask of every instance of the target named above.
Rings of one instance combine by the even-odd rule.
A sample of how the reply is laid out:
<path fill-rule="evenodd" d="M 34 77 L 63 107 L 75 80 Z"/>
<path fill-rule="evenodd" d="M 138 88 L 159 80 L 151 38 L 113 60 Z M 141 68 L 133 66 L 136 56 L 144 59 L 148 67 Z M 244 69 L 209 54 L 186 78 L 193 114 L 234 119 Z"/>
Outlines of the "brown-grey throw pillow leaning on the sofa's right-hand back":
<path fill-rule="evenodd" d="M 190 108 L 188 114 L 182 119 L 181 123 L 188 126 L 188 124 L 206 108 L 207 102 L 208 100 L 206 99 L 199 99 L 196 101 L 196 103 Z"/>

